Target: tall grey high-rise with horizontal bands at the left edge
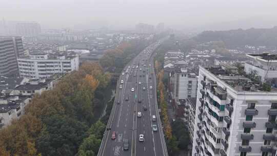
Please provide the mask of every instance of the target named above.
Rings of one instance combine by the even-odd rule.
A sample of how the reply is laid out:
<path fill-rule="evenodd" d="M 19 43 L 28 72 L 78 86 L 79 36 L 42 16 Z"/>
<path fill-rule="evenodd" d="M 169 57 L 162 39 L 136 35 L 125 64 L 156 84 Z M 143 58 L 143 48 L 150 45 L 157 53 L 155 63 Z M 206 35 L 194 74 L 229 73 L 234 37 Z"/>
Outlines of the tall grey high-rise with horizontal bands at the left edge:
<path fill-rule="evenodd" d="M 0 36 L 0 75 L 18 74 L 20 57 L 24 57 L 22 38 Z"/>

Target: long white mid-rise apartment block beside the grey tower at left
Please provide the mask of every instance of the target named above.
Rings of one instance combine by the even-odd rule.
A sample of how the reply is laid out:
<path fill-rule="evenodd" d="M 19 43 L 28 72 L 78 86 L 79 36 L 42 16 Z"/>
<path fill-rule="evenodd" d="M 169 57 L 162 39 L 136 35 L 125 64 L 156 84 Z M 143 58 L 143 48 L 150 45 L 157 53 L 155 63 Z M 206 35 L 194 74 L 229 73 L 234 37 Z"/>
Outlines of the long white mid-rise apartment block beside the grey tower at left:
<path fill-rule="evenodd" d="M 33 54 L 17 59 L 21 77 L 44 79 L 79 69 L 78 55 Z"/>

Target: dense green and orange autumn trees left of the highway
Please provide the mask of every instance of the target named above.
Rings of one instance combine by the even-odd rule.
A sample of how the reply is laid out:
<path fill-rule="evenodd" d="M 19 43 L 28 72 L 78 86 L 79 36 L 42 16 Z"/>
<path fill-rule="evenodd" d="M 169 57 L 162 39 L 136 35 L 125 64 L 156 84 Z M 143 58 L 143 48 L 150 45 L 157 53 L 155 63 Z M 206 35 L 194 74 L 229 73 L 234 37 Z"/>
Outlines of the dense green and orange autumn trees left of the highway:
<path fill-rule="evenodd" d="M 94 113 L 109 82 L 99 64 L 84 63 L 53 90 L 35 95 L 26 114 L 0 131 L 0 155 L 97 154 L 105 125 L 93 124 Z"/>

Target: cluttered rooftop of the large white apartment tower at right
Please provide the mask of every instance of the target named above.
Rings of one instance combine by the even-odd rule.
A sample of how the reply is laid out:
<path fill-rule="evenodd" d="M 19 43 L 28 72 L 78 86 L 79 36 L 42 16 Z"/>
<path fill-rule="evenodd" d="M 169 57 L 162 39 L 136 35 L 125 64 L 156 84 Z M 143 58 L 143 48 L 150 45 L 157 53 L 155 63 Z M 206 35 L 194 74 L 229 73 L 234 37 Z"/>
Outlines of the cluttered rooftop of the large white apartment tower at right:
<path fill-rule="evenodd" d="M 243 67 L 232 65 L 203 65 L 210 73 L 237 91 L 273 91 L 277 92 L 277 79 L 261 82 L 260 77 L 254 74 L 246 74 Z M 216 84 L 212 80 L 207 80 Z"/>

